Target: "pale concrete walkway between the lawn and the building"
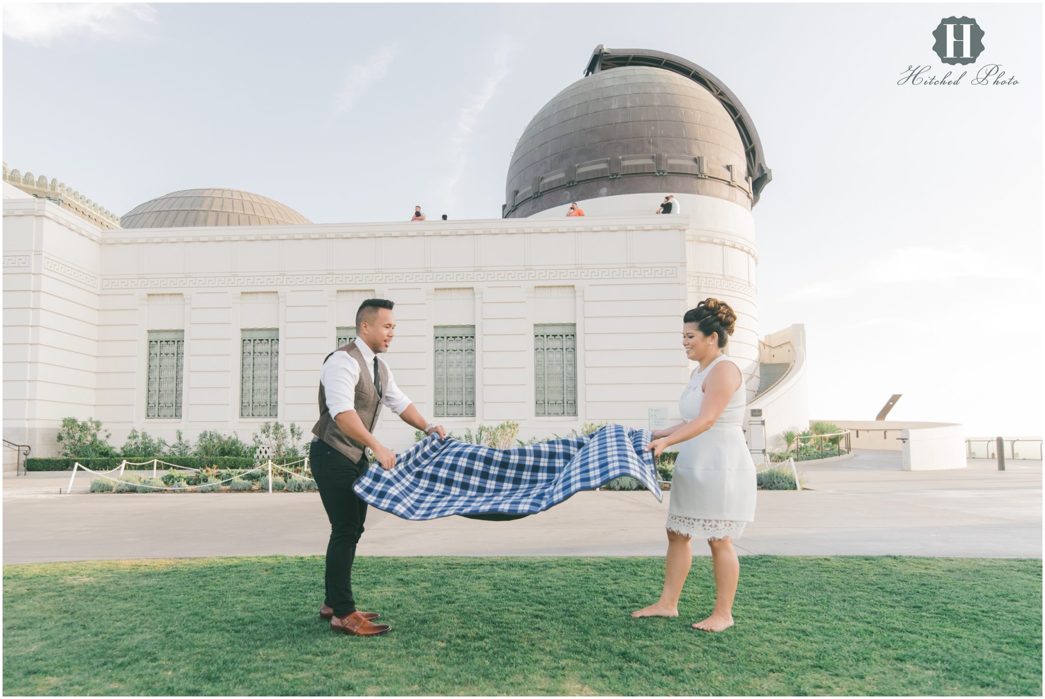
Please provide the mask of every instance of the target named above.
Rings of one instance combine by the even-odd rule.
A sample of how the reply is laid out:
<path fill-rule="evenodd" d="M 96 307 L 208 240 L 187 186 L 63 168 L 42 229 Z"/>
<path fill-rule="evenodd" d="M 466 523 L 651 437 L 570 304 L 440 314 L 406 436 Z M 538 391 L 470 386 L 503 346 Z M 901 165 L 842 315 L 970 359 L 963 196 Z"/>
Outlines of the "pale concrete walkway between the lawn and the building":
<path fill-rule="evenodd" d="M 760 491 L 741 554 L 1042 556 L 1042 462 L 903 471 L 897 452 L 799 465 L 809 490 Z M 3 474 L 3 562 L 314 555 L 329 525 L 316 493 L 98 495 L 69 473 Z M 76 492 L 80 491 L 80 492 Z M 369 556 L 663 556 L 670 492 L 588 491 L 508 522 L 408 521 L 371 509 Z M 694 553 L 706 555 L 696 543 Z"/>

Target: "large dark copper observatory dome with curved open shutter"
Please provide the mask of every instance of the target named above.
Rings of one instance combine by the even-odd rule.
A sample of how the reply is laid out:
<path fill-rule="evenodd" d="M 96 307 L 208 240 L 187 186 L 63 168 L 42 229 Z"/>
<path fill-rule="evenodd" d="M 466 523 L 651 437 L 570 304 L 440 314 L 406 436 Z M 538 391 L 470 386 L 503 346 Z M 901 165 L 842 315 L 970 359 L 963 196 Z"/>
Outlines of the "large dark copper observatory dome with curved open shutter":
<path fill-rule="evenodd" d="M 505 217 L 614 194 L 705 194 L 750 209 L 771 179 L 743 106 L 669 53 L 596 48 L 512 154 Z"/>

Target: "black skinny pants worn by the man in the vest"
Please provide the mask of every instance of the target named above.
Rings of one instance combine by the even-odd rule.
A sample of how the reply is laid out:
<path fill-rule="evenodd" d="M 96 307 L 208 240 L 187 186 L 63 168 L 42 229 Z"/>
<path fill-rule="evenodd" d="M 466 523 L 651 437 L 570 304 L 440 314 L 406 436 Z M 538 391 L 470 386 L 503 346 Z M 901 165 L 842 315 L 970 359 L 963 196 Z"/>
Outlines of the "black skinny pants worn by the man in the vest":
<path fill-rule="evenodd" d="M 344 616 L 355 611 L 352 561 L 355 560 L 355 544 L 363 536 L 363 522 L 367 519 L 367 504 L 352 490 L 352 484 L 363 475 L 369 464 L 366 455 L 352 463 L 323 441 L 312 442 L 308 451 L 312 477 L 330 520 L 324 604 L 331 607 L 336 616 Z"/>

